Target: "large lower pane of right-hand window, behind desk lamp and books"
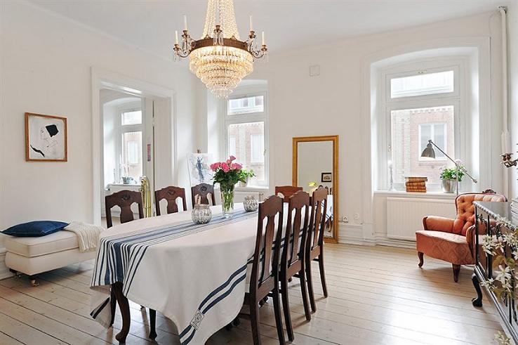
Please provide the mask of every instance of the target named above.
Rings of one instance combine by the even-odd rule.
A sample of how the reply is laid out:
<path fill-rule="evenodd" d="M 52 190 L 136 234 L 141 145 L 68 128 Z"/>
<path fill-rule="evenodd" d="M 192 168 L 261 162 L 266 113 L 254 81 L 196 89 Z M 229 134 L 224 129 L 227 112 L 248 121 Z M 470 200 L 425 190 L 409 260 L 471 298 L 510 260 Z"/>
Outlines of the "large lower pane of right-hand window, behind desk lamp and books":
<path fill-rule="evenodd" d="M 405 176 L 426 176 L 428 183 L 439 183 L 446 157 L 434 148 L 435 159 L 420 157 L 428 140 L 455 157 L 454 108 L 446 107 L 392 110 L 392 162 L 394 183 L 404 185 Z"/>

